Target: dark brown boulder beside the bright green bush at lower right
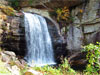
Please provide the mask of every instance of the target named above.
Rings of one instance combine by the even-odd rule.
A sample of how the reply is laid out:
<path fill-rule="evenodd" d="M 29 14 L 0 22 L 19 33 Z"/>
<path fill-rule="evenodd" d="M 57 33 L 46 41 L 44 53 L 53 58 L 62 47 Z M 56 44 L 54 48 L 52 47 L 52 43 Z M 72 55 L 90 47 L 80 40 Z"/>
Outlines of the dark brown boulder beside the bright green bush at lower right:
<path fill-rule="evenodd" d="M 86 52 L 76 52 L 68 58 L 68 62 L 74 69 L 84 69 L 87 65 Z"/>

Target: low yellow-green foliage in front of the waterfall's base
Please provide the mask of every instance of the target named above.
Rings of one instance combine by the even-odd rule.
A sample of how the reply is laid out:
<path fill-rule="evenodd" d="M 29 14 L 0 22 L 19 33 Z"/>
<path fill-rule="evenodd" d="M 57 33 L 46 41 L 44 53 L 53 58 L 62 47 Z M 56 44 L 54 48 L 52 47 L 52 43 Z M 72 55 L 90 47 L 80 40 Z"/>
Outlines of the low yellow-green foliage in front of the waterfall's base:
<path fill-rule="evenodd" d="M 68 64 L 67 59 L 64 59 L 63 64 L 58 68 L 52 66 L 34 67 L 33 69 L 41 71 L 44 75 L 75 75 L 75 71 Z"/>

